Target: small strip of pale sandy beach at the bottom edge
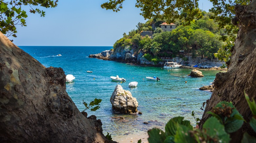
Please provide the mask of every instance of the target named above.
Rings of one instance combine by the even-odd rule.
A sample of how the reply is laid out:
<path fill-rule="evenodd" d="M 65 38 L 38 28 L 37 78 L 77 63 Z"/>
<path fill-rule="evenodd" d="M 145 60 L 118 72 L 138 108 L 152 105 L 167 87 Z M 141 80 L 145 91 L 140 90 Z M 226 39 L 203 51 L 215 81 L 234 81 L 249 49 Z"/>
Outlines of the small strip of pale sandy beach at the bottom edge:
<path fill-rule="evenodd" d="M 120 135 L 112 137 L 112 140 L 119 143 L 137 143 L 139 139 L 141 139 L 142 143 L 148 143 L 148 134 L 146 132 L 141 132 L 135 135 Z"/>

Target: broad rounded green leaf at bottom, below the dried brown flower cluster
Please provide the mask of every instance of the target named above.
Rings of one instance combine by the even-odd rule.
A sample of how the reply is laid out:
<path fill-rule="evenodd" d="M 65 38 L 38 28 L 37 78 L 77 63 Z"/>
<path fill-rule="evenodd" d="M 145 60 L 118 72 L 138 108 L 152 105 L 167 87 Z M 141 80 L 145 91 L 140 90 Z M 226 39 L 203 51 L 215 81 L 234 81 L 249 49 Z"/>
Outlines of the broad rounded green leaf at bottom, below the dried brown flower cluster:
<path fill-rule="evenodd" d="M 230 140 L 229 135 L 225 132 L 224 125 L 215 117 L 210 117 L 204 122 L 203 130 L 206 131 L 207 135 L 217 139 L 219 142 L 228 143 Z"/>

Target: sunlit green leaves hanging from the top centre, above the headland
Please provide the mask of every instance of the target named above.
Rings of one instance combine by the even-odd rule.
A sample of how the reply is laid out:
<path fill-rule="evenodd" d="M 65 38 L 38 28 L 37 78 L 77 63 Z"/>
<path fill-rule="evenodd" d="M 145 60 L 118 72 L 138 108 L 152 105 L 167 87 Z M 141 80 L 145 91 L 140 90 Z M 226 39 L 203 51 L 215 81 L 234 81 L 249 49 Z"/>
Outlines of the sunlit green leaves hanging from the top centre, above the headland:
<path fill-rule="evenodd" d="M 117 12 L 122 7 L 125 0 L 109 0 L 101 5 L 101 8 L 112 9 Z M 199 0 L 137 0 L 135 7 L 140 8 L 145 19 L 152 17 L 166 19 L 168 23 L 177 18 L 184 18 L 185 21 L 191 21 L 196 16 L 202 17 L 198 7 Z"/>

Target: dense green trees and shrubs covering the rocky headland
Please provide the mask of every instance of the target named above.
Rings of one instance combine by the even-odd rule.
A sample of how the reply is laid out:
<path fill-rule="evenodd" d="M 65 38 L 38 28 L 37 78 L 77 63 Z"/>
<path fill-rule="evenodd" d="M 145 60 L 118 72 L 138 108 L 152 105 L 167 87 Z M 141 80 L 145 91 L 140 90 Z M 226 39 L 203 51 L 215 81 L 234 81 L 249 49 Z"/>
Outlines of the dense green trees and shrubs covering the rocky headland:
<path fill-rule="evenodd" d="M 230 54 L 227 56 L 226 51 L 230 48 L 225 50 L 227 49 L 225 47 L 232 46 L 227 44 L 230 42 L 223 42 L 222 37 L 225 36 L 225 41 L 227 41 L 229 36 L 224 29 L 219 28 L 217 22 L 211 19 L 214 16 L 213 13 L 203 11 L 202 14 L 202 18 L 194 19 L 189 24 L 176 20 L 177 27 L 170 32 L 164 32 L 159 27 L 166 20 L 156 18 L 150 19 L 144 24 L 139 23 L 136 26 L 137 29 L 131 30 L 128 35 L 124 33 L 123 37 L 116 41 L 113 48 L 115 50 L 118 47 L 130 46 L 138 53 L 144 52 L 151 55 L 151 57 L 145 55 L 149 61 L 152 61 L 153 57 L 158 59 L 159 57 L 183 57 L 183 55 L 208 57 L 208 59 L 215 56 L 227 61 Z M 153 31 L 153 37 L 148 35 L 142 37 L 141 31 Z M 218 50 L 220 54 L 215 54 Z M 230 50 L 228 52 L 230 53 Z"/>

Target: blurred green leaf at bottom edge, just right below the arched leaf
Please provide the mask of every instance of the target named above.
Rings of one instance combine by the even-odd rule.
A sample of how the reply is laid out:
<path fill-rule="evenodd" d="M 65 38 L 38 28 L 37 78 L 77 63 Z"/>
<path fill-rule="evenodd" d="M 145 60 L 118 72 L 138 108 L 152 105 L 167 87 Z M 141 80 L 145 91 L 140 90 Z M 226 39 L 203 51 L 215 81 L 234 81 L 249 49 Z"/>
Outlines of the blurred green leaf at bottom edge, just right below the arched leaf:
<path fill-rule="evenodd" d="M 184 143 L 184 142 L 194 143 L 195 140 L 193 137 L 190 136 L 188 131 L 191 131 L 189 127 L 186 127 L 184 125 L 178 125 L 176 135 L 174 135 L 174 142 L 175 143 Z"/>

